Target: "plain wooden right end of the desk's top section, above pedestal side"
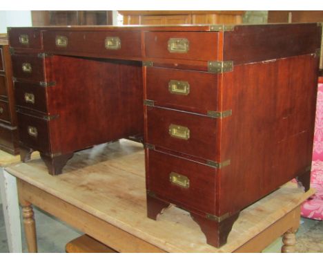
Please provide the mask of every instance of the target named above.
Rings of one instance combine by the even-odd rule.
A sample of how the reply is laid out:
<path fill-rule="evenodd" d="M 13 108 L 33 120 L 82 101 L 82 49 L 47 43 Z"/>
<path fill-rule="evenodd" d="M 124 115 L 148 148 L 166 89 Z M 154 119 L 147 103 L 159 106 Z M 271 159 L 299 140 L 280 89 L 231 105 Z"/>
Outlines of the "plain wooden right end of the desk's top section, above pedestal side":
<path fill-rule="evenodd" d="M 266 32 L 264 32 L 266 30 Z M 224 61 L 235 65 L 315 53 L 322 27 L 316 23 L 235 26 L 224 33 Z"/>

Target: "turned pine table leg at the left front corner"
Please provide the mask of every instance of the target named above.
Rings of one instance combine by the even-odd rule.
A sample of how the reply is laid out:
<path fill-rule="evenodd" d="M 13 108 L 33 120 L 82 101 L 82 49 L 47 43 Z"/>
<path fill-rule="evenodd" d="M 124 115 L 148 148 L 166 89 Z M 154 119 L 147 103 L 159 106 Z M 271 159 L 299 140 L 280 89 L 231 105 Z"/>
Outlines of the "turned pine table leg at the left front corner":
<path fill-rule="evenodd" d="M 28 252 L 37 252 L 37 238 L 36 227 L 34 220 L 34 210 L 30 202 L 21 202 L 22 214 L 23 214 L 23 226 L 25 228 L 26 242 L 28 246 Z"/>

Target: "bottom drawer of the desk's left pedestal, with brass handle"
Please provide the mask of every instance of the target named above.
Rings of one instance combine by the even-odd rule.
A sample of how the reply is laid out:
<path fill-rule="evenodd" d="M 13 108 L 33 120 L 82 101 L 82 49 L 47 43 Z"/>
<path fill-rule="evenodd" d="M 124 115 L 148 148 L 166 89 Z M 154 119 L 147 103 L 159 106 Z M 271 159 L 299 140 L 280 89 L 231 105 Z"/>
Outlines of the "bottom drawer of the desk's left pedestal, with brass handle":
<path fill-rule="evenodd" d="M 42 151 L 44 153 L 50 152 L 49 142 L 49 124 L 48 121 L 43 120 L 33 115 L 27 115 L 17 111 L 19 140 L 26 146 Z"/>

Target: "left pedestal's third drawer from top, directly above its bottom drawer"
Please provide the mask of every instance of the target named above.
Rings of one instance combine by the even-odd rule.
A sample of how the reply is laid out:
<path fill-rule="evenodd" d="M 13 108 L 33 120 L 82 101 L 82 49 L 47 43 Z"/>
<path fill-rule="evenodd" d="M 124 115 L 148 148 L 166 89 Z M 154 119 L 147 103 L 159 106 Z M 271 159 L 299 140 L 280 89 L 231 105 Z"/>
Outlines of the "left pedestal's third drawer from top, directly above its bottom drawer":
<path fill-rule="evenodd" d="M 14 97 L 17 106 L 48 113 L 46 87 L 39 86 L 39 84 L 14 82 Z"/>

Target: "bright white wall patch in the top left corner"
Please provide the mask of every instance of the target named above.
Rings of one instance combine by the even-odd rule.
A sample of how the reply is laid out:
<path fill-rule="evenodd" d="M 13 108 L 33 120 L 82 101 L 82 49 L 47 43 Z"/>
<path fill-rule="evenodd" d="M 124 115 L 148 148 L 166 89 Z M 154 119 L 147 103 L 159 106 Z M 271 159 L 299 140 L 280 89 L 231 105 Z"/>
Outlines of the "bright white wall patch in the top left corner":
<path fill-rule="evenodd" d="M 0 33 L 9 26 L 32 26 L 31 11 L 0 11 Z"/>

